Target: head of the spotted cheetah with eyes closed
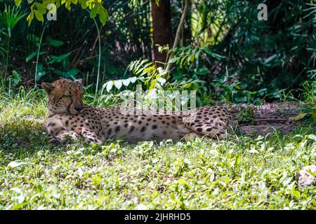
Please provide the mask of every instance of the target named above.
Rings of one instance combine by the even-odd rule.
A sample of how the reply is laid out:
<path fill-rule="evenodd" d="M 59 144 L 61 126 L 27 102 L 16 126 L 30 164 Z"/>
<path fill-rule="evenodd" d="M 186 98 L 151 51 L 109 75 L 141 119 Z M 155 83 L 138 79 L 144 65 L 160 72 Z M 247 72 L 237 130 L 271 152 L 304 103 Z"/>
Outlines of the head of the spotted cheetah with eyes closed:
<path fill-rule="evenodd" d="M 62 78 L 53 83 L 41 83 L 48 94 L 48 111 L 56 113 L 81 113 L 84 109 L 82 79 Z"/>

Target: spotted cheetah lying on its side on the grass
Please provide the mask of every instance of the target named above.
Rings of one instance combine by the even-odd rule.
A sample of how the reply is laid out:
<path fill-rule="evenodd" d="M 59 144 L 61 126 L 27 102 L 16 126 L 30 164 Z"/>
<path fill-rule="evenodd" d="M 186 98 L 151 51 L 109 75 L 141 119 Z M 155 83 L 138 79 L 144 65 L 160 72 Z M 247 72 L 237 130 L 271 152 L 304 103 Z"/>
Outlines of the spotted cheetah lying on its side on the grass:
<path fill-rule="evenodd" d="M 129 142 L 178 140 L 187 134 L 224 139 L 231 114 L 222 106 L 203 106 L 176 114 L 125 114 L 83 103 L 82 80 L 60 79 L 42 83 L 48 94 L 46 130 L 50 143 L 64 144 L 67 136 L 102 143 L 123 138 Z"/>

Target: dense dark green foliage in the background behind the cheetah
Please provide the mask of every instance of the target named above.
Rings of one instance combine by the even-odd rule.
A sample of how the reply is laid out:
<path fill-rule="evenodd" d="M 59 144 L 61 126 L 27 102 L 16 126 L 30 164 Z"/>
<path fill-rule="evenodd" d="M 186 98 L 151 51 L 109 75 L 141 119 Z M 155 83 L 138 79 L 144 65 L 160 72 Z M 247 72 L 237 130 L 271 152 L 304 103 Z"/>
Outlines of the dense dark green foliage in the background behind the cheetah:
<path fill-rule="evenodd" d="M 149 1 L 102 1 L 109 16 L 104 26 L 73 4 L 86 1 L 62 2 L 73 7 L 60 6 L 60 20 L 33 20 L 28 27 L 27 1 L 18 8 L 0 1 L 0 73 L 6 83 L 61 76 L 84 78 L 100 89 L 108 80 L 135 76 L 126 69 L 132 62 L 152 59 Z M 258 3 L 268 5 L 267 21 L 257 18 Z M 181 7 L 171 1 L 173 33 Z M 175 52 L 173 70 L 163 78 L 173 89 L 198 90 L 201 104 L 211 104 L 205 95 L 254 103 L 284 94 L 300 99 L 303 83 L 315 80 L 315 7 L 306 0 L 192 1 L 180 46 L 163 48 Z"/>

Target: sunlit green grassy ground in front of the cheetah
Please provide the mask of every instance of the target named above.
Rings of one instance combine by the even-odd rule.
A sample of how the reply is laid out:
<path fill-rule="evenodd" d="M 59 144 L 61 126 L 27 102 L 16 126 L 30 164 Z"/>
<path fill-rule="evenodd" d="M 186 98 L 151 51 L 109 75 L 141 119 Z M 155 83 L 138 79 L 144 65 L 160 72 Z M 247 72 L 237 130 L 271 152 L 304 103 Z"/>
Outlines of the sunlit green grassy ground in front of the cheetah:
<path fill-rule="evenodd" d="M 0 94 L 0 209 L 316 209 L 310 129 L 233 141 L 48 146 L 45 94 Z"/>

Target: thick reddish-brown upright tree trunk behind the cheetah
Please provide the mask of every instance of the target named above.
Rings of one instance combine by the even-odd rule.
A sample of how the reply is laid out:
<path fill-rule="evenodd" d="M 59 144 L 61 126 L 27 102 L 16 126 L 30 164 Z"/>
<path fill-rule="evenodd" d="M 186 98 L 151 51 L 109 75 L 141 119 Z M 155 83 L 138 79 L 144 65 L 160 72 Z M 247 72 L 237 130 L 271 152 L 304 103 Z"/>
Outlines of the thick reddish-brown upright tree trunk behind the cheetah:
<path fill-rule="evenodd" d="M 157 6 L 156 0 L 152 2 L 152 28 L 154 36 L 154 62 L 162 66 L 166 62 L 166 52 L 160 53 L 157 45 L 172 46 L 171 36 L 171 6 L 170 0 L 160 0 Z"/>

